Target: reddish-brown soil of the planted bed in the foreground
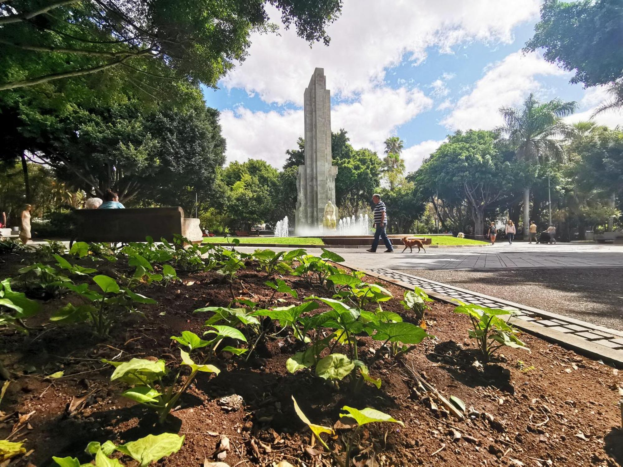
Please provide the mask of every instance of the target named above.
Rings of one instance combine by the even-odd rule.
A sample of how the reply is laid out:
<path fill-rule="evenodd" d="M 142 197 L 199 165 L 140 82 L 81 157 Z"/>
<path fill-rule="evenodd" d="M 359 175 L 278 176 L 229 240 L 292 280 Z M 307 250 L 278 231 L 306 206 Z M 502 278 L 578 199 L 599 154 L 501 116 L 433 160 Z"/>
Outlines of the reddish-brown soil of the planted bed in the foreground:
<path fill-rule="evenodd" d="M 0 279 L 15 272 L 16 257 L 0 260 L 4 260 Z M 239 278 L 244 286 L 237 286 L 237 294 L 268 300 L 272 291 L 264 285 L 264 273 L 247 269 L 240 271 Z M 320 287 L 310 290 L 299 278 L 283 280 L 298 291 L 299 300 L 308 295 L 330 296 Z M 176 367 L 178 351 L 169 337 L 185 329 L 200 333 L 209 313 L 193 314 L 193 310 L 226 306 L 231 299 L 216 273 L 188 275 L 183 281 L 142 291 L 158 305 L 143 309 L 145 318 L 136 314 L 118 325 L 105 342 L 93 338 L 86 326 L 59 327 L 45 321 L 45 315 L 70 296 L 45 302 L 44 313 L 29 323 L 35 328 L 29 335 L 0 334 L 2 361 L 16 374 L 0 407 L 6 414 L 0 418 L 0 439 L 17 426 L 19 431 L 11 440 L 24 441 L 27 451 L 33 450 L 11 466 L 47 466 L 52 455 L 78 456 L 87 462 L 83 450 L 89 441 L 125 442 L 158 431 L 186 436 L 181 450 L 160 466 L 216 461 L 214 451 L 221 435 L 231 441 L 225 462 L 232 467 L 271 466 L 282 460 L 295 466 L 333 465 L 317 445 L 310 449 L 310 431 L 295 414 L 292 395 L 313 423 L 333 425 L 343 405 L 373 407 L 405 423 L 404 427 L 374 424 L 361 430 L 357 466 L 623 463 L 617 392 L 623 377 L 617 370 L 526 334 L 521 338 L 530 352 L 505 348 L 496 361 L 480 367 L 473 342 L 467 339 L 467 316 L 454 314 L 452 305 L 439 302 L 431 304 L 426 316 L 427 331 L 434 338 L 423 341 L 402 361 L 383 357 L 374 362 L 370 372 L 383 380 L 380 390 L 366 386 L 352 394 L 348 385 L 338 389 L 308 370 L 289 374 L 285 361 L 300 346 L 288 336 L 259 347 L 248 363 L 239 357 L 213 362 L 221 374 L 199 374 L 166 427 L 155 427 L 150 412 L 120 397 L 124 388 L 110 383 L 111 369 L 100 359 L 119 354 L 121 361 L 153 356 Z M 412 319 L 399 303 L 404 290 L 384 285 L 395 298 L 383 309 L 401 313 L 406 321 Z M 296 303 L 285 294 L 275 298 L 283 300 L 282 306 Z M 371 349 L 378 348 L 379 342 L 365 335 L 358 341 L 360 358 L 370 362 Z M 434 410 L 427 397 L 430 393 L 418 387 L 406 367 L 420 372 L 445 397 L 459 397 L 471 415 L 457 420 L 444 410 Z M 59 370 L 65 372 L 61 379 L 43 379 Z M 231 394 L 242 396 L 240 410 L 228 412 L 217 402 Z M 69 413 L 74 397 L 85 401 Z M 439 404 L 438 399 L 435 402 Z M 338 430 L 340 435 L 352 432 Z M 343 452 L 340 440 L 329 443 Z"/>

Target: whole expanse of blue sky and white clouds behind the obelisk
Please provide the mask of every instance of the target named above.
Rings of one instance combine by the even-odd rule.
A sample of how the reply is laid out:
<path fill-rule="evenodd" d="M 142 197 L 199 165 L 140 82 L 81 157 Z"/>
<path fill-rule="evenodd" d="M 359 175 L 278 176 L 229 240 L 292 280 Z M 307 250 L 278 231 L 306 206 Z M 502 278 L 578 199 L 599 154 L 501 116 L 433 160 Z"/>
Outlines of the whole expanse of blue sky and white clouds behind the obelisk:
<path fill-rule="evenodd" d="M 385 138 L 399 136 L 409 170 L 447 134 L 498 125 L 498 108 L 520 105 L 530 92 L 576 100 L 581 107 L 569 121 L 586 120 L 604 90 L 571 85 L 570 73 L 521 53 L 539 7 L 538 0 L 346 0 L 328 47 L 310 48 L 283 28 L 254 35 L 249 58 L 219 90 L 204 89 L 207 105 L 222 112 L 227 159 L 283 164 L 303 133 L 302 96 L 315 67 L 331 90 L 332 130 L 345 128 L 355 148 L 379 154 Z M 606 115 L 600 123 L 622 120 Z"/>

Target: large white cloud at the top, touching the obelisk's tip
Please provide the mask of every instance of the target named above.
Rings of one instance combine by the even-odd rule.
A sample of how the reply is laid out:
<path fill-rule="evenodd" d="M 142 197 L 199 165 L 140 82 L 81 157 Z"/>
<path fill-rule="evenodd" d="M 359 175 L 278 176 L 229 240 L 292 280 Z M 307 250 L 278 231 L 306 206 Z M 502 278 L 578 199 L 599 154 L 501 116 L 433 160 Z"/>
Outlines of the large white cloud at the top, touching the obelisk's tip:
<path fill-rule="evenodd" d="M 325 68 L 334 94 L 353 97 L 383 82 L 386 70 L 403 59 L 419 63 L 426 49 L 452 53 L 457 44 L 513 40 L 512 30 L 538 17 L 538 0 L 348 0 L 328 27 L 331 44 L 312 49 L 293 29 L 280 35 L 253 34 L 250 55 L 223 80 L 262 100 L 302 105 L 303 89 L 315 67 Z M 278 22 L 279 13 L 270 16 Z"/>

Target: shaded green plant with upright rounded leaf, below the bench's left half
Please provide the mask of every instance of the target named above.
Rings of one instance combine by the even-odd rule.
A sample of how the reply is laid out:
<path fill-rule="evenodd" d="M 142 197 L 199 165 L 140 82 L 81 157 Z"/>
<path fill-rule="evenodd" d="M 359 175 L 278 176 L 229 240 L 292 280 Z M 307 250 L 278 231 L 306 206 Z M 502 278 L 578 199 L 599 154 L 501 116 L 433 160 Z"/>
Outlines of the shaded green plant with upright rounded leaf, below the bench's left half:
<path fill-rule="evenodd" d="M 117 281 L 110 276 L 97 275 L 93 277 L 100 291 L 90 290 L 88 284 L 67 285 L 80 298 L 90 303 L 74 306 L 68 303 L 52 314 L 51 321 L 60 323 L 89 322 L 100 337 L 108 336 L 110 328 L 124 314 L 135 313 L 136 304 L 156 304 L 156 301 L 144 295 L 131 291 L 127 287 L 120 287 Z"/>

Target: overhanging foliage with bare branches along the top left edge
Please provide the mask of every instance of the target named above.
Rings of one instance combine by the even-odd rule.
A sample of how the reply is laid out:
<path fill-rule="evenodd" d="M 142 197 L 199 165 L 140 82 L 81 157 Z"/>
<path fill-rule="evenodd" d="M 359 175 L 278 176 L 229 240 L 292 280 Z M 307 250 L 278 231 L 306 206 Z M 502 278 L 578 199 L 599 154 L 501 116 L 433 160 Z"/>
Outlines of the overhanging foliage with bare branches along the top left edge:
<path fill-rule="evenodd" d="M 0 3 L 0 90 L 104 72 L 146 93 L 171 80 L 216 86 L 244 60 L 252 31 L 274 31 L 267 4 L 308 42 L 341 0 L 13 0 Z M 138 73 L 138 75 L 136 74 Z"/>

